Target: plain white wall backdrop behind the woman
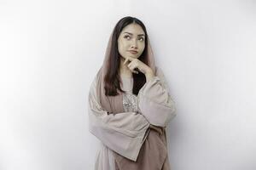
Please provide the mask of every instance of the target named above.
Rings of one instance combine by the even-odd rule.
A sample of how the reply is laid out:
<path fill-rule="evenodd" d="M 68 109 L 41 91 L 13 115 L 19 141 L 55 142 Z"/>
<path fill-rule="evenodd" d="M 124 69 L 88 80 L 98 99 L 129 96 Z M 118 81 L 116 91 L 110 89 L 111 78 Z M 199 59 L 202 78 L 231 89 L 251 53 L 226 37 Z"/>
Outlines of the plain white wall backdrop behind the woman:
<path fill-rule="evenodd" d="M 127 15 L 177 103 L 172 169 L 256 169 L 253 0 L 0 0 L 0 169 L 93 169 L 89 87 Z"/>

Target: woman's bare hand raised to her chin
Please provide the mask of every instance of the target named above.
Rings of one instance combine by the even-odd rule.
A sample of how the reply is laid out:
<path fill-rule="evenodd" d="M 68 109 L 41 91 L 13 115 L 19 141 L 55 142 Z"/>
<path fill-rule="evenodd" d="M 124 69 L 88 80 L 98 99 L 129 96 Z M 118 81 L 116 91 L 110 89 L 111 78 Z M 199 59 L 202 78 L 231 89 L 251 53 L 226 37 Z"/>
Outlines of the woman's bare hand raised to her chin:
<path fill-rule="evenodd" d="M 135 69 L 137 68 L 139 71 L 141 71 L 146 77 L 151 78 L 154 77 L 154 72 L 153 70 L 146 64 L 143 63 L 143 61 L 139 60 L 139 59 L 133 59 L 131 57 L 126 57 L 125 58 L 125 62 L 124 65 L 127 61 L 131 61 L 127 66 L 128 68 L 134 72 L 134 73 L 138 73 Z"/>

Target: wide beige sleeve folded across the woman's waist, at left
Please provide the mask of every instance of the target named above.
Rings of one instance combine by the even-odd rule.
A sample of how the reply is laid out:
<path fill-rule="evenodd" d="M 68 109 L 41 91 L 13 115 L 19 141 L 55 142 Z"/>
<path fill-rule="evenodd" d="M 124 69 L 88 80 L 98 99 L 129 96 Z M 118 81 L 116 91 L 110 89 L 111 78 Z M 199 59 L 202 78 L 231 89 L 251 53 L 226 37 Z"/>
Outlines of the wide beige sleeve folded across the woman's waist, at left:
<path fill-rule="evenodd" d="M 136 161 L 145 139 L 149 122 L 138 112 L 108 114 L 102 110 L 96 93 L 96 78 L 90 85 L 88 114 L 90 133 L 100 139 L 109 149 Z"/>

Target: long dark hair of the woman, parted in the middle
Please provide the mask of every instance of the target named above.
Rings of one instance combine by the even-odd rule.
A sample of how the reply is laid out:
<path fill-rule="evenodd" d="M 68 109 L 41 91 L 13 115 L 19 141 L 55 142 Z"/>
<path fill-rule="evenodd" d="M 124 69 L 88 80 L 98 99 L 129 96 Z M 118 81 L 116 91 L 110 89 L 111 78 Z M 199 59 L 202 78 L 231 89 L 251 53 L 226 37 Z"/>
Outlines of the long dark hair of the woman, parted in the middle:
<path fill-rule="evenodd" d="M 118 90 L 121 93 L 125 93 L 120 87 L 120 75 L 119 75 L 119 64 L 120 64 L 120 55 L 118 51 L 118 38 L 120 35 L 120 32 L 123 30 L 125 26 L 128 26 L 131 23 L 136 23 L 139 26 L 143 28 L 143 31 L 145 32 L 145 48 L 143 51 L 143 54 L 138 58 L 143 63 L 148 65 L 148 34 L 146 27 L 144 26 L 143 22 L 141 20 L 138 20 L 135 17 L 126 16 L 118 21 L 116 26 L 113 29 L 113 37 L 112 37 L 112 44 L 110 48 L 110 56 L 107 63 L 108 72 L 106 73 L 104 77 L 105 82 L 105 95 L 108 96 L 115 96 L 118 95 Z M 138 94 L 139 90 L 143 87 L 143 85 L 146 82 L 145 75 L 138 71 L 139 73 L 132 73 L 133 77 L 133 88 L 132 88 L 132 94 Z"/>

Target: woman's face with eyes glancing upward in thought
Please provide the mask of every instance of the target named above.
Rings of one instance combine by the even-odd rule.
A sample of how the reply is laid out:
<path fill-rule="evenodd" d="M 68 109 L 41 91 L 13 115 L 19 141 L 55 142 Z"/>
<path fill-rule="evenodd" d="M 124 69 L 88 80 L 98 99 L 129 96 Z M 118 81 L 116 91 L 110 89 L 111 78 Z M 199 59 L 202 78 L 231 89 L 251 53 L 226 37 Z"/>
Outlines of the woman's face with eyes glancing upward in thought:
<path fill-rule="evenodd" d="M 145 32 L 143 28 L 135 23 L 125 26 L 118 38 L 119 54 L 126 58 L 128 56 L 137 59 L 145 48 Z"/>

